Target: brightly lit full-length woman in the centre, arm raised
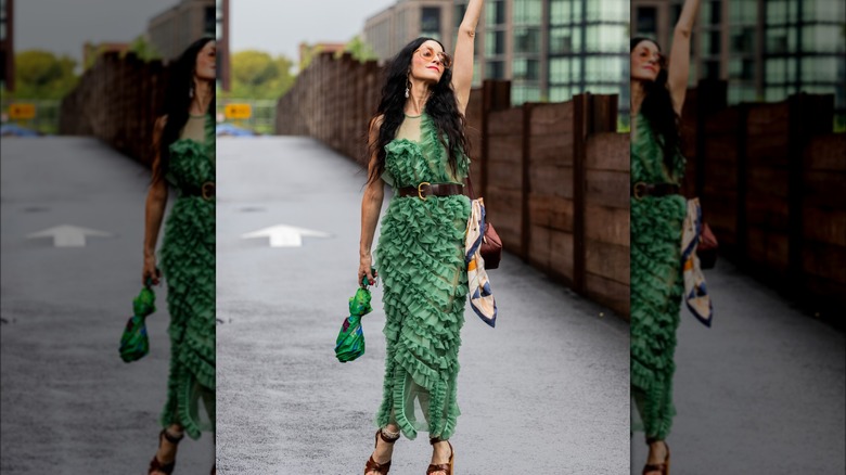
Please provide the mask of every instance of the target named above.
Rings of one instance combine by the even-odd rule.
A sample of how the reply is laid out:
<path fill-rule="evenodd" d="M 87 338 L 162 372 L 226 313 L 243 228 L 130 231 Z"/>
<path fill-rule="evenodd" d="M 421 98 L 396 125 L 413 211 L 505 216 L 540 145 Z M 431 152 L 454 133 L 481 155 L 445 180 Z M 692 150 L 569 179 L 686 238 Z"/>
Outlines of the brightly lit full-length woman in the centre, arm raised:
<path fill-rule="evenodd" d="M 361 202 L 358 282 L 373 284 L 371 245 L 385 183 L 390 201 L 376 248 L 387 339 L 384 394 L 375 449 L 366 475 L 386 474 L 400 432 L 427 432 L 427 474 L 452 474 L 448 439 L 456 429 L 459 332 L 467 294 L 464 230 L 470 200 L 464 111 L 473 80 L 473 40 L 483 0 L 471 0 L 459 28 L 456 60 L 431 38 L 407 44 L 387 66 L 370 123 L 369 180 Z"/>

